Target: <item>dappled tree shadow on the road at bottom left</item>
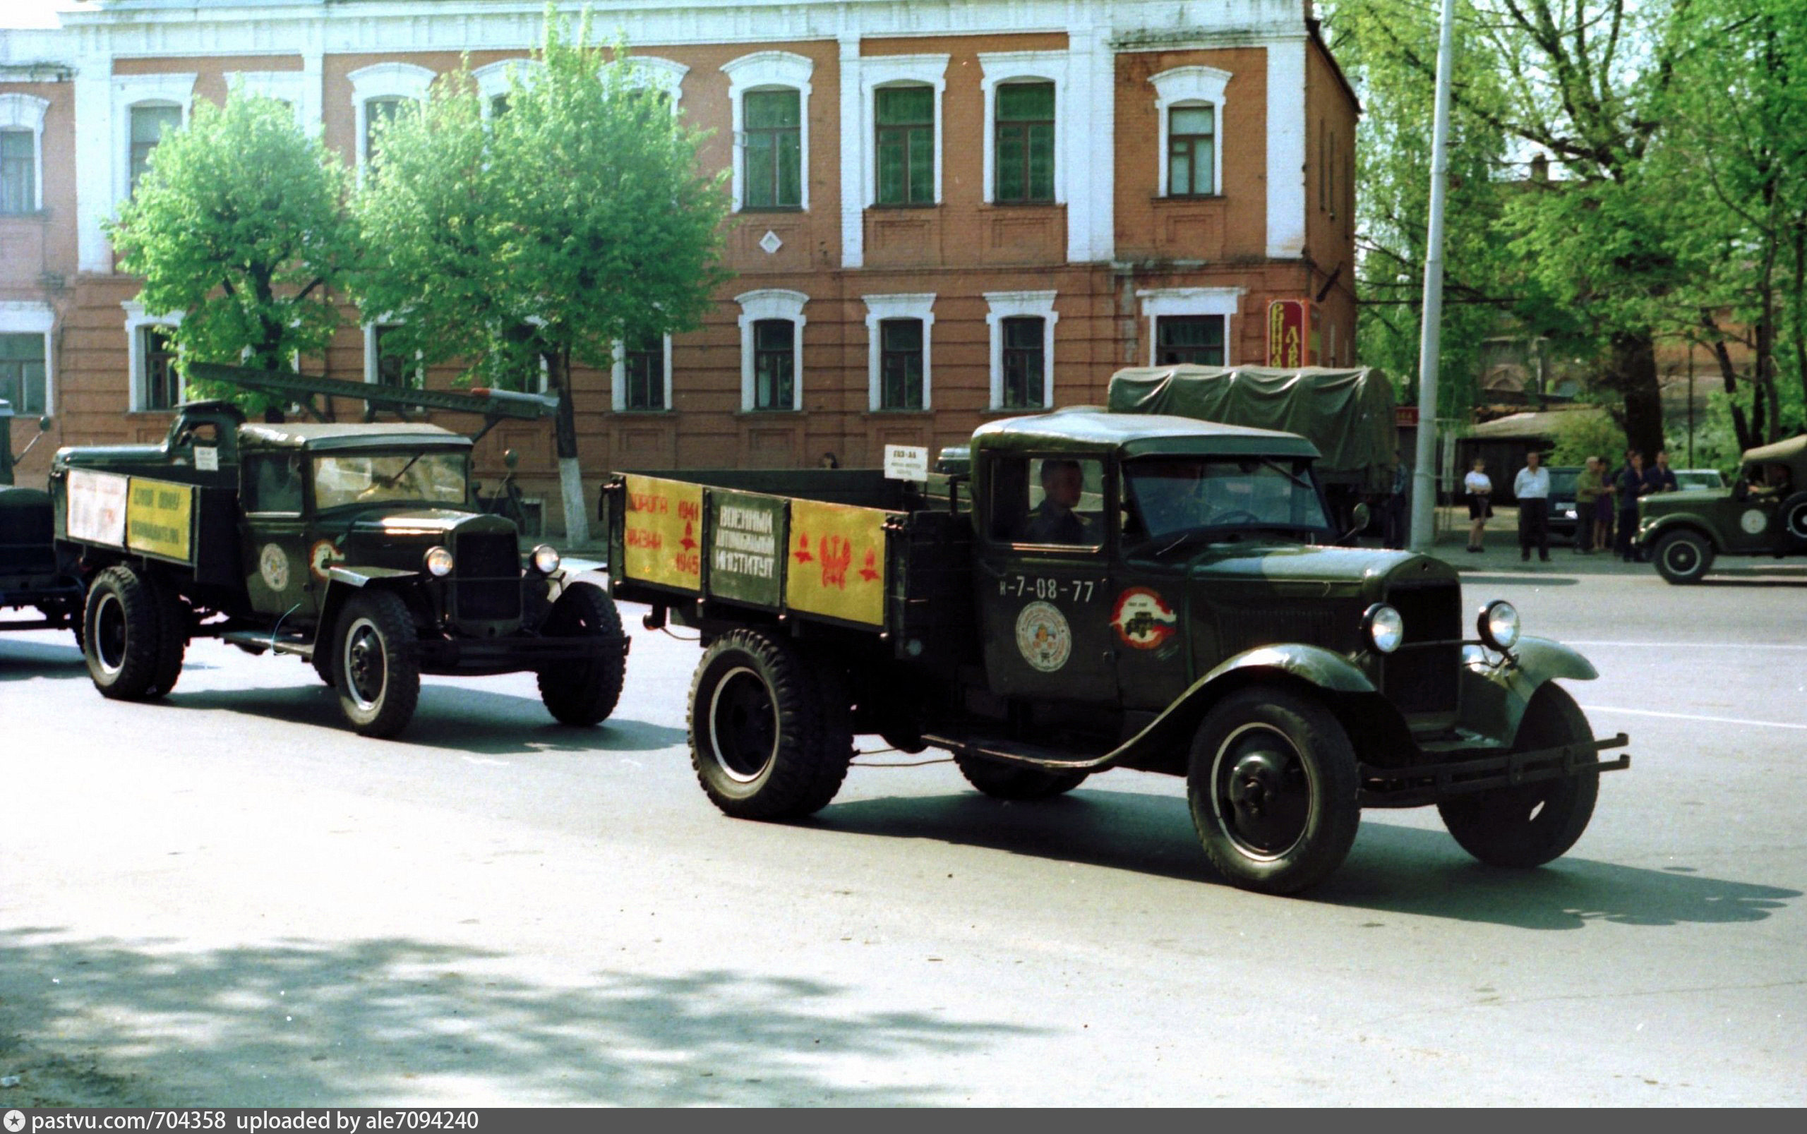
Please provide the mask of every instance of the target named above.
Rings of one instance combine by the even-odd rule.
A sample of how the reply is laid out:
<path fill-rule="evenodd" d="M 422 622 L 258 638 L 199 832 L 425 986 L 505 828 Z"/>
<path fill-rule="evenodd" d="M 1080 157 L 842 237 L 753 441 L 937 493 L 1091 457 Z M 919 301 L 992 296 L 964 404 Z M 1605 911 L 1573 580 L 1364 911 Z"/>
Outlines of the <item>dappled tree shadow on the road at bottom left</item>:
<path fill-rule="evenodd" d="M 730 968 L 598 971 L 571 988 L 508 975 L 508 961 L 416 939 L 183 952 L 7 930 L 0 1036 L 45 1064 L 65 1058 L 45 1049 L 80 1051 L 110 1076 L 99 1101 L 669 1107 L 958 1101 L 963 1083 L 885 1085 L 882 1069 L 1028 1031 L 858 1011 L 846 988 Z M 23 1074 L 9 1101 L 54 1096 Z"/>

